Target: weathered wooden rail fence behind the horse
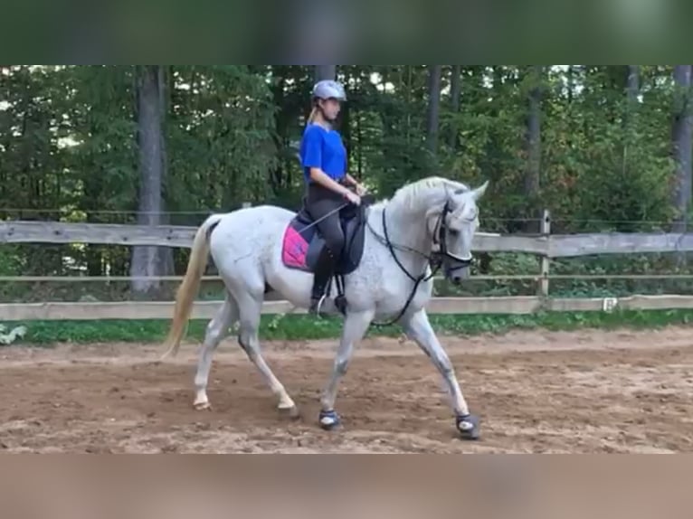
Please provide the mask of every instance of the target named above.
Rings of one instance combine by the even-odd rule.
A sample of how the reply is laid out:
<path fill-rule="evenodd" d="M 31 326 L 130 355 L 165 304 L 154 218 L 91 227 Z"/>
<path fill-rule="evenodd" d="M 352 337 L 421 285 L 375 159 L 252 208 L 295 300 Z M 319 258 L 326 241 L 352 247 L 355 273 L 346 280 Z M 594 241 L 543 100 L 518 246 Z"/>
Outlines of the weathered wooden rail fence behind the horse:
<path fill-rule="evenodd" d="M 474 276 L 473 279 L 534 279 L 536 296 L 527 297 L 435 297 L 429 310 L 432 314 L 530 314 L 546 311 L 611 311 L 615 307 L 637 309 L 693 308 L 693 296 L 630 296 L 621 298 L 556 298 L 549 297 L 551 278 L 580 278 L 579 276 L 552 276 L 551 259 L 601 254 L 629 254 L 636 252 L 688 252 L 693 250 L 693 234 L 688 233 L 590 233 L 551 234 L 550 219 L 545 213 L 542 230 L 536 236 L 500 235 L 479 232 L 474 241 L 475 251 L 524 252 L 541 258 L 540 272 L 521 276 Z M 154 245 L 184 247 L 192 245 L 195 227 L 145 226 L 125 224 L 65 223 L 65 222 L 0 222 L 0 246 L 5 243 L 93 243 L 104 245 Z M 590 278 L 586 276 L 583 278 Z M 600 278 L 619 278 L 601 276 Z M 685 278 L 677 275 L 640 275 L 621 278 Z M 690 277 L 688 277 L 690 278 Z M 0 277 L 0 282 L 11 281 L 69 281 L 127 280 L 119 278 L 11 278 Z M 165 277 L 177 280 L 180 277 Z M 195 303 L 194 318 L 211 318 L 219 302 Z M 85 302 L 85 303 L 17 303 L 0 304 L 0 321 L 36 319 L 168 319 L 173 302 Z M 286 301 L 267 301 L 263 307 L 267 314 L 303 313 Z"/>

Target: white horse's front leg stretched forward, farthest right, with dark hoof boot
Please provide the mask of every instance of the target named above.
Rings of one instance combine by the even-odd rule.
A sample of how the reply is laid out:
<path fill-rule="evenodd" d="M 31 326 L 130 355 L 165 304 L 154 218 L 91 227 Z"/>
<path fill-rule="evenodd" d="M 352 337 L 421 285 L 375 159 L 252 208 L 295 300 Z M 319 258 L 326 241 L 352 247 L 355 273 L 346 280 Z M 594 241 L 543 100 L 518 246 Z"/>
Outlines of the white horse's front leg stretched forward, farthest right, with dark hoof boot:
<path fill-rule="evenodd" d="M 433 365 L 441 373 L 442 378 L 452 398 L 452 408 L 455 412 L 455 423 L 463 439 L 479 439 L 479 417 L 470 414 L 467 402 L 464 400 L 460 383 L 457 381 L 455 369 L 450 357 L 441 346 L 435 335 L 425 309 L 421 309 L 403 320 L 404 331 L 428 355 Z"/>

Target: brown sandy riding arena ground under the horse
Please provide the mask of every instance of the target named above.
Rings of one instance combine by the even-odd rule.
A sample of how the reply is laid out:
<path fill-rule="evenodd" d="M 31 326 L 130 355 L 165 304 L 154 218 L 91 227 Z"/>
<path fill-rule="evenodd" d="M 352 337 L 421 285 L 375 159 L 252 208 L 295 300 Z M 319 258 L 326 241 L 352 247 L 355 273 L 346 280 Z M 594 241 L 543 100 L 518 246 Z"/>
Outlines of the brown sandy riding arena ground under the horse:
<path fill-rule="evenodd" d="M 440 375 L 413 343 L 367 340 L 337 398 L 343 428 L 318 428 L 333 341 L 264 343 L 299 404 L 291 420 L 235 342 L 192 403 L 197 344 L 0 348 L 2 452 L 693 451 L 693 329 L 514 332 L 441 338 L 481 440 L 460 440 Z"/>

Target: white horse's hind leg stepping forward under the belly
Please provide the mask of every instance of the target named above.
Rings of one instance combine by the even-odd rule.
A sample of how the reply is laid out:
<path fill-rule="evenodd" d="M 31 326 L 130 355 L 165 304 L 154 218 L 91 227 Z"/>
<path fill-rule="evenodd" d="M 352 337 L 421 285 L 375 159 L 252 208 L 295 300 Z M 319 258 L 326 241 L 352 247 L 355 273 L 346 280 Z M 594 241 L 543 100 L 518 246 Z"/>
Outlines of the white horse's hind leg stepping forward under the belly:
<path fill-rule="evenodd" d="M 270 386 L 271 392 L 279 400 L 278 409 L 289 414 L 291 418 L 299 417 L 299 410 L 296 403 L 291 399 L 283 384 L 277 379 L 269 365 L 265 362 L 261 354 L 260 338 L 258 329 L 260 328 L 260 317 L 262 310 L 262 300 L 254 297 L 250 292 L 236 294 L 240 309 L 240 330 L 238 342 L 250 361 L 261 373 L 262 378 Z"/>

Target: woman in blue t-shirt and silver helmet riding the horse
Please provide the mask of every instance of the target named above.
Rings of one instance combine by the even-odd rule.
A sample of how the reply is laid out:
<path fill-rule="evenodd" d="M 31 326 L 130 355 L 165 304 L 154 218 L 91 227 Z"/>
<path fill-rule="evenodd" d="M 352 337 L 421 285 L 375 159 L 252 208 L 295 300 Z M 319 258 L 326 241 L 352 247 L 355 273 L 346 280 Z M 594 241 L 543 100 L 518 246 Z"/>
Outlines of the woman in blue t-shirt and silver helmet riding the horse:
<path fill-rule="evenodd" d="M 344 247 L 344 232 L 339 222 L 339 207 L 346 201 L 361 203 L 364 187 L 346 173 L 346 148 L 339 132 L 333 128 L 346 101 L 341 83 L 318 81 L 313 87 L 313 109 L 300 143 L 300 160 L 308 184 L 306 207 L 326 247 L 318 259 L 309 312 L 317 314 L 325 298 L 328 279 Z M 348 189 L 356 188 L 356 193 Z"/>

